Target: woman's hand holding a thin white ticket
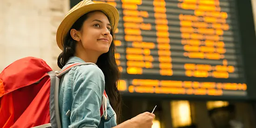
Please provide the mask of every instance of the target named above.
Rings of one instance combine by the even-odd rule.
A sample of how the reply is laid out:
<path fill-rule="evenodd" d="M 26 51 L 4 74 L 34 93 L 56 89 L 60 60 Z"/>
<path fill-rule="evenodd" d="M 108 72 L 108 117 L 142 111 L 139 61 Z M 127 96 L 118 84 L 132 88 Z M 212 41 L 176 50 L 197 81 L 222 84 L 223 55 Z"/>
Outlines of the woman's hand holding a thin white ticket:
<path fill-rule="evenodd" d="M 155 115 L 149 112 L 142 113 L 130 119 L 132 128 L 151 128 Z"/>

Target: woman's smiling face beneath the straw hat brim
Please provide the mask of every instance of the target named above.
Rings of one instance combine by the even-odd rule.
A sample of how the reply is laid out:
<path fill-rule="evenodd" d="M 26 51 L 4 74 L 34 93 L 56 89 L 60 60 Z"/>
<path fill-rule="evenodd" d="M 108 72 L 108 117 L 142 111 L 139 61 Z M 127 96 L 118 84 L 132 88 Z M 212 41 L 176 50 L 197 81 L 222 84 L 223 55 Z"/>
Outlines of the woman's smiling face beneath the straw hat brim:
<path fill-rule="evenodd" d="M 113 40 L 111 29 L 108 17 L 96 11 L 88 13 L 88 19 L 84 21 L 80 31 L 71 30 L 71 33 L 75 31 L 77 34 L 75 40 L 78 41 L 79 50 L 101 55 L 108 52 Z"/>

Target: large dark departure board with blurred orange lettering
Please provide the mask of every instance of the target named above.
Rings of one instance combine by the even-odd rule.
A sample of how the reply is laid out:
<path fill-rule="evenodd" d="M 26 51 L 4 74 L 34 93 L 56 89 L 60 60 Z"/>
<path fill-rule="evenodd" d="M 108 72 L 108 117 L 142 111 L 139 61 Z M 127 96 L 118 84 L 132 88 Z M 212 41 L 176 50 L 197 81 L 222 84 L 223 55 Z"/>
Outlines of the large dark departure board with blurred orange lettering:
<path fill-rule="evenodd" d="M 246 97 L 233 0 L 94 0 L 120 13 L 122 94 Z"/>

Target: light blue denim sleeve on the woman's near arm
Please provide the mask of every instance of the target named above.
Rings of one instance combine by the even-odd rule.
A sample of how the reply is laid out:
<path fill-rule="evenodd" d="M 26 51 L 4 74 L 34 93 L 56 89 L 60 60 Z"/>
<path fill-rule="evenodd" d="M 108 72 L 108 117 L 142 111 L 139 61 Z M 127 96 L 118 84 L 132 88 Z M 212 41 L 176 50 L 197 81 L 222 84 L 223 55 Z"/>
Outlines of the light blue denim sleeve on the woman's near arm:
<path fill-rule="evenodd" d="M 101 120 L 101 100 L 105 89 L 104 74 L 95 65 L 77 67 L 69 128 L 97 128 Z"/>

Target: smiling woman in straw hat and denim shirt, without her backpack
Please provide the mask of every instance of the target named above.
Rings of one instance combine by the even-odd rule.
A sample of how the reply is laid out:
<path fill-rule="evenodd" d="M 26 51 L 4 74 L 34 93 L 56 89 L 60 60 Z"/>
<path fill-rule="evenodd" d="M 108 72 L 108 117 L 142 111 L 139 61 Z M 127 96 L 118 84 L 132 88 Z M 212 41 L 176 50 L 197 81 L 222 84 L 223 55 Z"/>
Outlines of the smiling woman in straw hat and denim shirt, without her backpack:
<path fill-rule="evenodd" d="M 113 41 L 118 20 L 115 7 L 83 0 L 61 22 L 56 35 L 62 50 L 58 66 L 63 70 L 73 63 L 91 62 L 73 67 L 61 78 L 59 107 L 62 128 L 151 128 L 155 115 L 148 112 L 119 125 L 116 123 L 121 108 Z M 104 90 L 107 115 L 101 116 Z"/>

